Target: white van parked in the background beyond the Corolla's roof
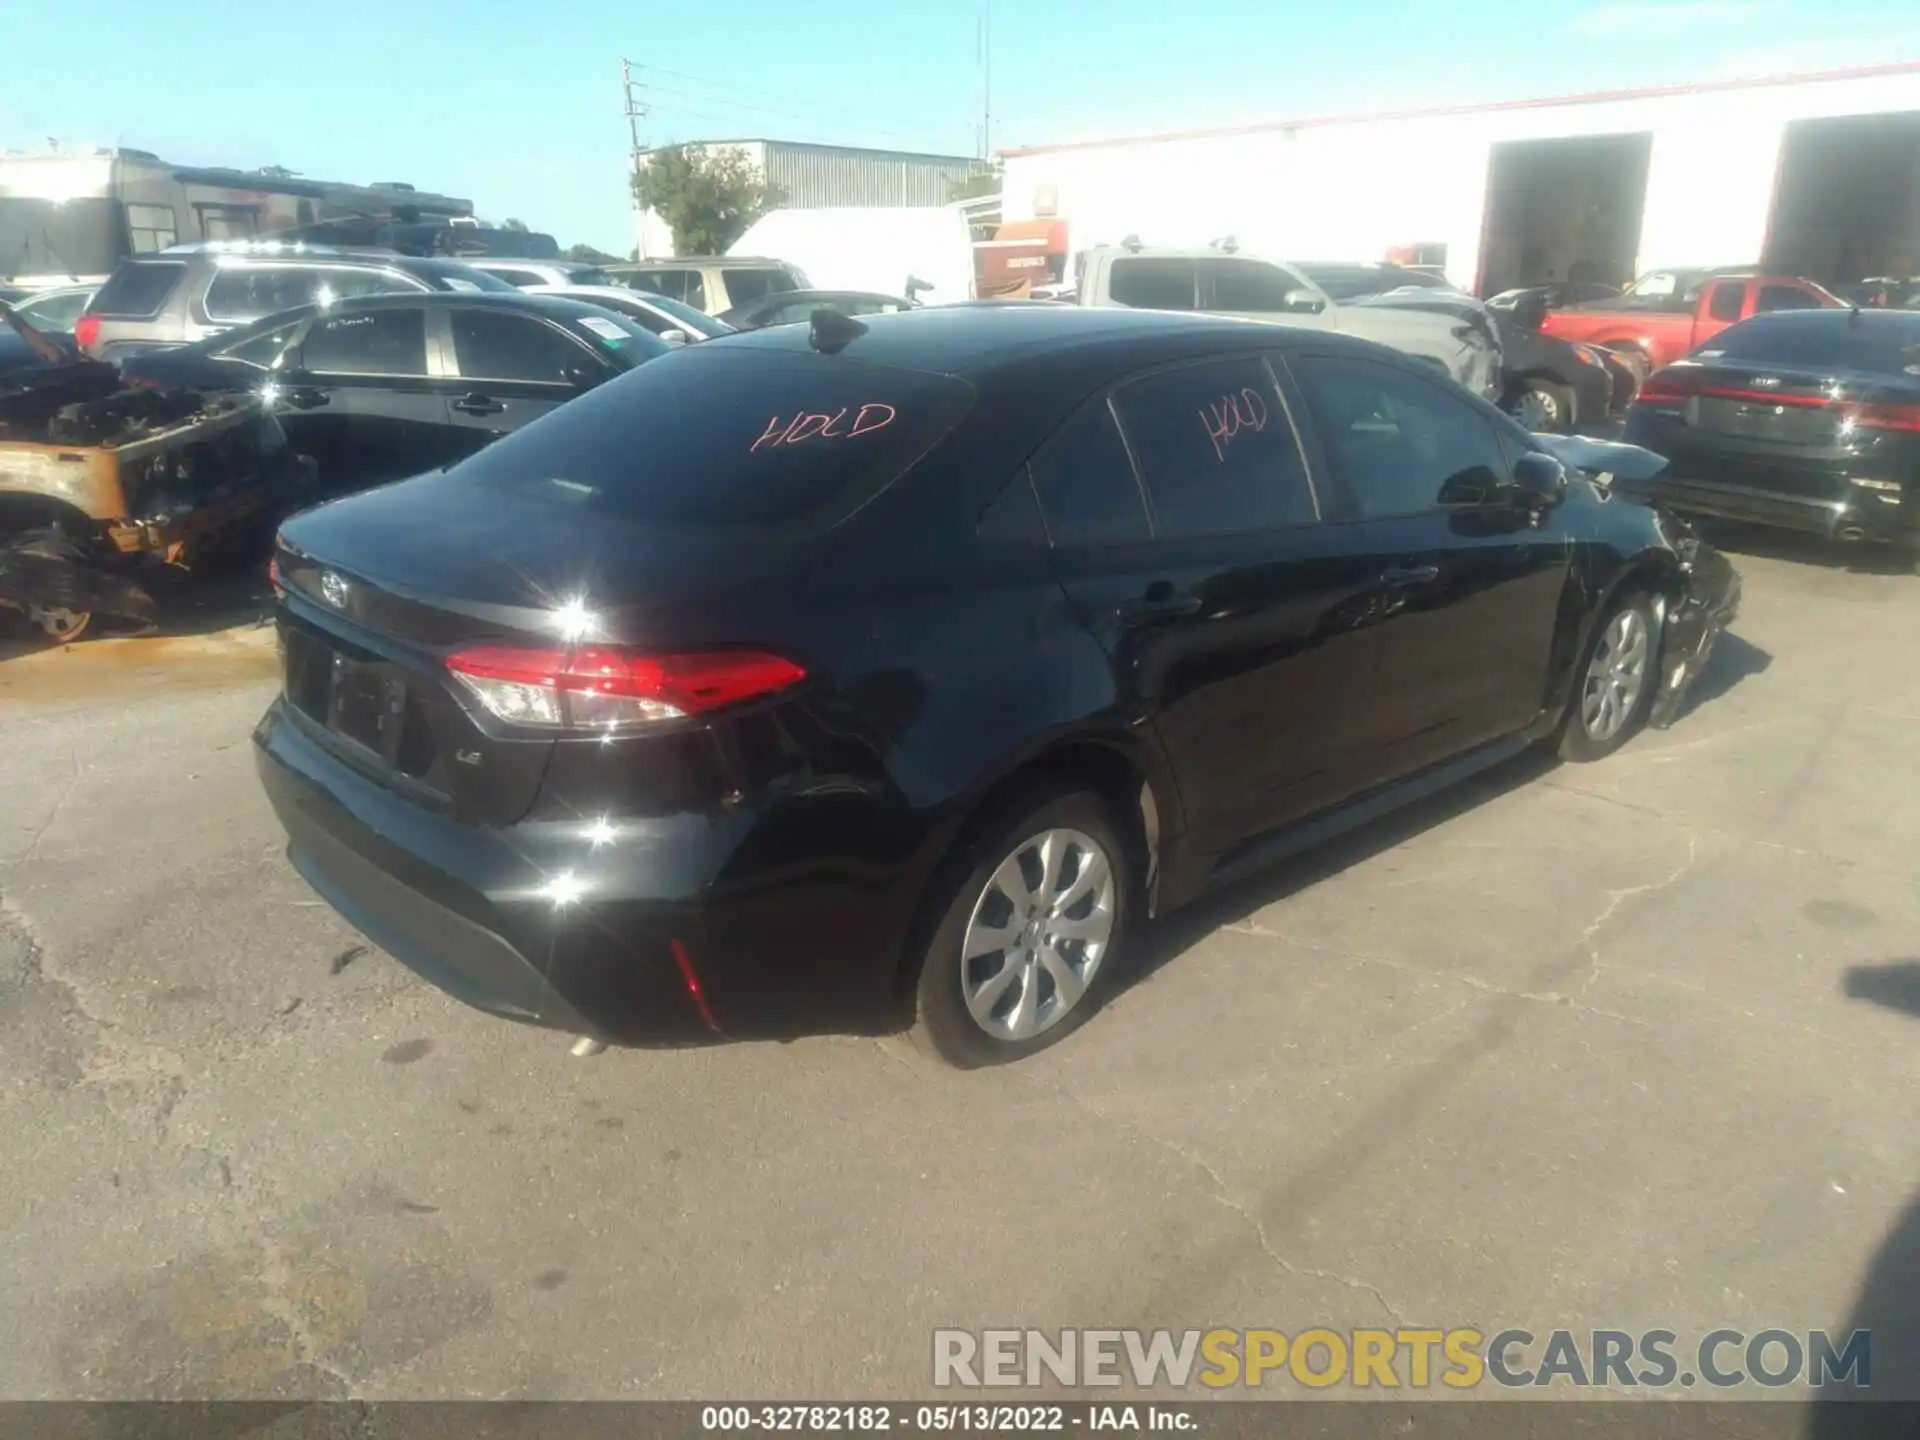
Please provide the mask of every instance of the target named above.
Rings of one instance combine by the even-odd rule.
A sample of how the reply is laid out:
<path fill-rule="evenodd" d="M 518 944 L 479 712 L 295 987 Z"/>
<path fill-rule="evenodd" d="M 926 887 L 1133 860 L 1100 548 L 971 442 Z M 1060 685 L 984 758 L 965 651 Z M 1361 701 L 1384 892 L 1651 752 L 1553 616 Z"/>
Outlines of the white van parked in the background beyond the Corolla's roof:
<path fill-rule="evenodd" d="M 973 298 L 973 234 L 956 205 L 776 209 L 730 255 L 772 255 L 806 271 L 816 290 L 904 296 L 924 305 Z"/>

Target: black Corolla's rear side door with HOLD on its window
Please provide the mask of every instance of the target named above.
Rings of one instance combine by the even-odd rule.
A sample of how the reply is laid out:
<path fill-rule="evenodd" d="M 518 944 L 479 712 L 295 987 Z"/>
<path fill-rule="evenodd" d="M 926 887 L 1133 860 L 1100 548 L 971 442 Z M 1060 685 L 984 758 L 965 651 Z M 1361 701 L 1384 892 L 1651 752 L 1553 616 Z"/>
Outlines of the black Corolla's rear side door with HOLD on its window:
<path fill-rule="evenodd" d="M 1060 582 L 1123 703 L 1158 728 L 1196 847 L 1223 852 L 1348 793 L 1369 561 L 1321 524 L 1267 363 L 1135 376 L 1031 472 Z"/>

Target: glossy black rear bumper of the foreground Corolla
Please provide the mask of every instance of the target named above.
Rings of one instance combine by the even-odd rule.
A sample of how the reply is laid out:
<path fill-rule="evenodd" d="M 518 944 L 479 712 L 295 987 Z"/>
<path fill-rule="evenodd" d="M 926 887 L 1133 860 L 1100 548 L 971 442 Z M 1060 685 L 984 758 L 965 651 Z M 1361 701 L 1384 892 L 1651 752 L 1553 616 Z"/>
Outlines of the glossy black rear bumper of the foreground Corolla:
<path fill-rule="evenodd" d="M 899 868 L 849 876 L 781 854 L 781 810 L 655 816 L 612 837 L 578 818 L 478 826 L 348 766 L 284 701 L 253 745 L 294 868 L 369 941 L 478 1010 L 628 1043 L 899 1020 L 935 837 Z"/>

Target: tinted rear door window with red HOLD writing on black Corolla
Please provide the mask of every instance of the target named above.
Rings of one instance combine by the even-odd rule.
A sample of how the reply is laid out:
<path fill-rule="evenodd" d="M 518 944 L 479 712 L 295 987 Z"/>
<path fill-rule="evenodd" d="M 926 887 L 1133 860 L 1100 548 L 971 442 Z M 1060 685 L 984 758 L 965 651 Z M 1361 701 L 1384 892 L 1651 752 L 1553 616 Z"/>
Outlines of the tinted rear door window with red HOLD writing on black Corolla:
<path fill-rule="evenodd" d="M 1286 405 L 1258 355 L 1183 365 L 1121 386 L 1114 409 L 1164 540 L 1319 518 Z"/>

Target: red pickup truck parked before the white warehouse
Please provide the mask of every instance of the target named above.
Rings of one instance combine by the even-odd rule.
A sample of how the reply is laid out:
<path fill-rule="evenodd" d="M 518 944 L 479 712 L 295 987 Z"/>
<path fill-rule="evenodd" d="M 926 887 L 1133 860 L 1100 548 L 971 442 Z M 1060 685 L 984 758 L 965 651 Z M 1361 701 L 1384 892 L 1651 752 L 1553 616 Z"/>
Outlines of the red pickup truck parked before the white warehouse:
<path fill-rule="evenodd" d="M 1812 280 L 1724 271 L 1653 271 L 1613 300 L 1548 311 L 1542 330 L 1607 349 L 1638 349 L 1670 365 L 1730 324 L 1776 309 L 1843 309 Z"/>

